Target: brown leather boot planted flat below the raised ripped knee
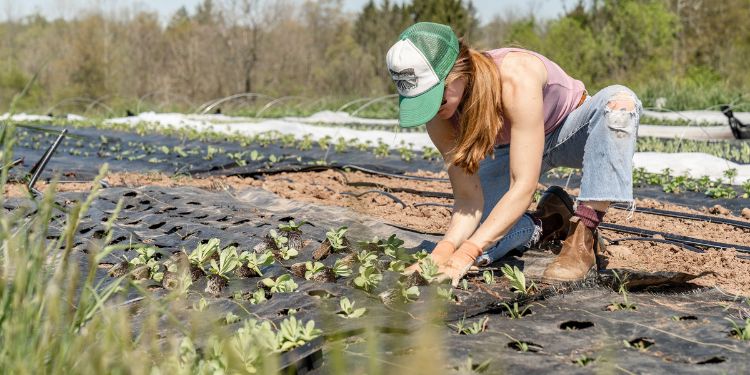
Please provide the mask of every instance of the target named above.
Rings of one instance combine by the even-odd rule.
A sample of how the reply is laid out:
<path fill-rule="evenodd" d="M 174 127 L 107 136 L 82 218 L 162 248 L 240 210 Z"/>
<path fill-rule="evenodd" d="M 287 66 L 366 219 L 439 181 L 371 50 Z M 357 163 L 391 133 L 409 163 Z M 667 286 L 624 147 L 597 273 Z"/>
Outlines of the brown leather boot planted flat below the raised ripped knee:
<path fill-rule="evenodd" d="M 596 234 L 586 228 L 577 216 L 570 219 L 571 233 L 563 241 L 560 255 L 542 274 L 545 281 L 577 281 L 596 266 Z"/>

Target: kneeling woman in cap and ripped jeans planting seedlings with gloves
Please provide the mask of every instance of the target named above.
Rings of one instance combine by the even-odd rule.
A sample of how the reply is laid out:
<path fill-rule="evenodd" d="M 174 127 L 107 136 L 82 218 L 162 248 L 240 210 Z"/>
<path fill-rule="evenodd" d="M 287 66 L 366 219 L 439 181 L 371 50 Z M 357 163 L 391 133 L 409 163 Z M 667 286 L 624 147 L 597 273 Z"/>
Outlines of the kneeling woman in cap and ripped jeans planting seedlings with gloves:
<path fill-rule="evenodd" d="M 633 202 L 636 95 L 615 85 L 587 97 L 583 83 L 546 57 L 480 53 L 445 25 L 417 23 L 399 39 L 386 60 L 400 124 L 427 124 L 455 197 L 448 231 L 430 254 L 440 272 L 456 285 L 475 263 L 567 235 L 543 277 L 584 278 L 610 202 Z M 557 188 L 527 214 L 540 174 L 559 166 L 583 168 L 575 212 Z"/>

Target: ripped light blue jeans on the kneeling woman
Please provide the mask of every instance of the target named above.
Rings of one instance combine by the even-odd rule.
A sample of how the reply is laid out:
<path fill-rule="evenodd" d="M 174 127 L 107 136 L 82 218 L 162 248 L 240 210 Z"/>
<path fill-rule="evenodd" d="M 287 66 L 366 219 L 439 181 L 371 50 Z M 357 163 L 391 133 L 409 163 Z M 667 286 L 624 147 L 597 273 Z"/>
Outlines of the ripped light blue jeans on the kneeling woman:
<path fill-rule="evenodd" d="M 633 111 L 617 106 L 628 99 L 635 103 Z M 579 201 L 633 202 L 633 153 L 642 111 L 641 101 L 625 86 L 608 86 L 589 96 L 546 136 L 542 173 L 555 167 L 582 168 Z M 508 191 L 509 158 L 509 148 L 500 146 L 495 148 L 494 157 L 479 165 L 484 194 L 482 222 Z M 538 231 L 531 216 L 524 214 L 484 251 L 477 265 L 493 263 L 511 250 L 528 248 L 538 238 Z"/>

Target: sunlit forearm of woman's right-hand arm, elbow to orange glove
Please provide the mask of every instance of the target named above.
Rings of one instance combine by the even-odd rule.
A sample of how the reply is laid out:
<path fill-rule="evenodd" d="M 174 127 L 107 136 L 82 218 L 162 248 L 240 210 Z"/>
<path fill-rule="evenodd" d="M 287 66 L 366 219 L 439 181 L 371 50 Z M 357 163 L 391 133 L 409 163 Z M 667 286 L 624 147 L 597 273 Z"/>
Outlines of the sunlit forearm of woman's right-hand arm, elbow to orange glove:
<path fill-rule="evenodd" d="M 482 249 L 499 241 L 518 218 L 526 212 L 534 196 L 534 189 L 524 186 L 511 186 L 495 205 L 487 219 L 470 237 L 471 242 Z"/>

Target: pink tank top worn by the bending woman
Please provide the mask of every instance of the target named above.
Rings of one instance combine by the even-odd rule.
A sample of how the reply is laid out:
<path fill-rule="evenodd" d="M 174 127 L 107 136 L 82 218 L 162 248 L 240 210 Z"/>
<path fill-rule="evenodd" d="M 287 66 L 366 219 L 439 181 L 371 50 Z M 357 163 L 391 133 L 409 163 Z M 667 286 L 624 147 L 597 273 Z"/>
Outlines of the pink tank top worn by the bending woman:
<path fill-rule="evenodd" d="M 563 119 L 576 109 L 581 101 L 581 96 L 586 91 L 583 82 L 570 77 L 559 65 L 548 58 L 521 48 L 500 48 L 486 51 L 485 54 L 495 61 L 498 69 L 503 58 L 509 52 L 525 52 L 539 58 L 547 68 L 547 83 L 542 89 L 542 101 L 544 111 L 544 134 L 547 135 L 562 124 Z M 458 125 L 458 115 L 451 119 L 454 126 Z M 510 121 L 503 117 L 503 127 L 495 140 L 496 145 L 507 145 L 510 143 Z"/>

